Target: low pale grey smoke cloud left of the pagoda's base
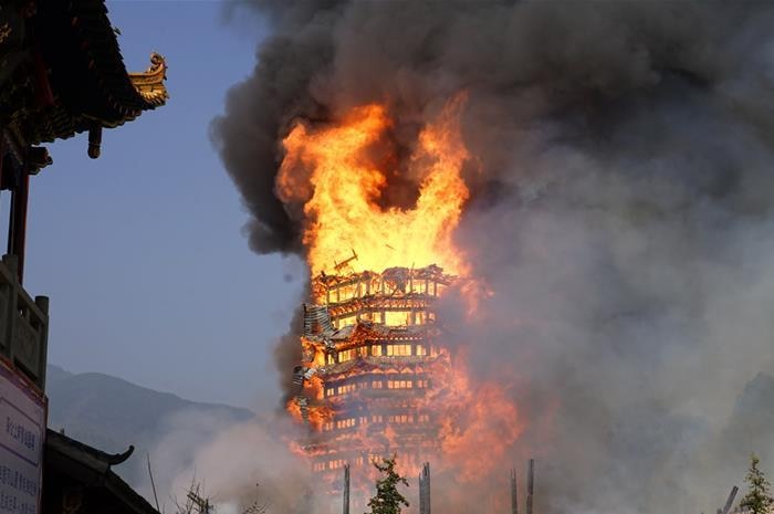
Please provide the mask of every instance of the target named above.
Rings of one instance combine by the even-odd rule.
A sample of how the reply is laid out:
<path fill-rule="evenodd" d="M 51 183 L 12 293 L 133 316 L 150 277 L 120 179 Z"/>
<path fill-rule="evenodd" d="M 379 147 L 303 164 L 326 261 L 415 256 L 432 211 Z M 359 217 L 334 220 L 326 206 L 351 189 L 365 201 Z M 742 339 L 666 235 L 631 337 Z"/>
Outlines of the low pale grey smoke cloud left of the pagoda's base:
<path fill-rule="evenodd" d="M 166 432 L 149 452 L 163 512 L 184 506 L 191 486 L 219 514 L 242 514 L 253 504 L 269 513 L 311 512 L 310 499 L 322 497 L 304 461 L 290 449 L 301 437 L 290 419 L 268 415 L 237 421 L 188 411 L 164 424 Z M 139 490 L 154 501 L 146 461 L 135 465 L 143 469 Z"/>

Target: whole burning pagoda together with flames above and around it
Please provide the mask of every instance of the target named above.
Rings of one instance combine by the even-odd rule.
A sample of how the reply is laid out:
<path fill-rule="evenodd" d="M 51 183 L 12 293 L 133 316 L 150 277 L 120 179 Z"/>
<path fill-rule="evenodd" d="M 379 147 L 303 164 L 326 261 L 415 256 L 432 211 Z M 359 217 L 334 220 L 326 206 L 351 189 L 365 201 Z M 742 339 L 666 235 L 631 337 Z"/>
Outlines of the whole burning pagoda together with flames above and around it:
<path fill-rule="evenodd" d="M 502 448 L 515 437 L 480 430 L 484 417 L 515 413 L 496 387 L 470 388 L 464 357 L 450 354 L 438 318 L 450 289 L 474 305 L 471 268 L 452 239 L 469 198 L 463 103 L 450 99 L 419 132 L 406 164 L 416 180 L 409 206 L 379 203 L 398 172 L 385 168 L 395 162 L 390 145 L 380 145 L 393 123 L 385 106 L 356 107 L 330 124 L 297 122 L 283 139 L 275 192 L 295 210 L 303 203 L 312 285 L 287 403 L 310 430 L 292 447 L 331 492 L 344 465 L 370 481 L 369 461 L 393 453 L 405 475 L 426 460 L 475 473 L 479 441 Z M 357 253 L 341 262 L 347 248 Z"/>

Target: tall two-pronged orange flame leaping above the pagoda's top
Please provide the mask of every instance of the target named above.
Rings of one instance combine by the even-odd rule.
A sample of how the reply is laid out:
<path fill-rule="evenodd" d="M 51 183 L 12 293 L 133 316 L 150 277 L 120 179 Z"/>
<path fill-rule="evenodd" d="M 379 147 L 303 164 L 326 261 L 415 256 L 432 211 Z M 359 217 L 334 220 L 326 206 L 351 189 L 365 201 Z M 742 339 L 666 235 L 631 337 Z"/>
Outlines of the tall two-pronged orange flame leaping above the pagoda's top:
<path fill-rule="evenodd" d="M 336 260 L 357 253 L 363 270 L 438 264 L 457 275 L 468 265 L 452 244 L 469 191 L 462 180 L 468 150 L 460 135 L 459 95 L 419 135 L 411 162 L 420 177 L 412 209 L 378 206 L 387 174 L 366 155 L 391 122 L 385 107 L 356 108 L 341 125 L 314 129 L 297 124 L 283 140 L 285 158 L 276 179 L 283 201 L 305 201 L 303 242 L 312 274 L 330 270 Z M 311 170 L 308 182 L 299 168 Z M 310 186 L 311 183 L 311 190 Z"/>

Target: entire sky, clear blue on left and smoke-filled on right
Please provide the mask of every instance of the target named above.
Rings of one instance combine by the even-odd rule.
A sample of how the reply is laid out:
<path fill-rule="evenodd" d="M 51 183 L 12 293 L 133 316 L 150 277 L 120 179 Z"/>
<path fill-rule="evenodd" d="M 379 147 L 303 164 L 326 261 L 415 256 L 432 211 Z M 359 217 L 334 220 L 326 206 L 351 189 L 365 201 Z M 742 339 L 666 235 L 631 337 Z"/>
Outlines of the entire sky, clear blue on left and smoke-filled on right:
<path fill-rule="evenodd" d="M 108 7 L 129 67 L 166 54 L 172 97 L 108 132 L 97 161 L 83 138 L 54 145 L 33 181 L 28 289 L 52 295 L 52 361 L 273 408 L 293 359 L 281 346 L 274 370 L 272 344 L 303 289 L 279 256 L 303 252 L 304 222 L 273 196 L 279 139 L 376 101 L 409 155 L 466 91 L 457 241 L 494 295 L 469 323 L 444 312 L 477 379 L 508 385 L 524 417 L 504 468 L 537 457 L 545 512 L 693 514 L 739 483 L 745 452 L 774 469 L 771 427 L 756 448 L 728 439 L 744 385 L 774 374 L 768 6 Z M 197 441 L 199 470 L 253 480 L 265 461 L 244 449 L 266 439 Z"/>

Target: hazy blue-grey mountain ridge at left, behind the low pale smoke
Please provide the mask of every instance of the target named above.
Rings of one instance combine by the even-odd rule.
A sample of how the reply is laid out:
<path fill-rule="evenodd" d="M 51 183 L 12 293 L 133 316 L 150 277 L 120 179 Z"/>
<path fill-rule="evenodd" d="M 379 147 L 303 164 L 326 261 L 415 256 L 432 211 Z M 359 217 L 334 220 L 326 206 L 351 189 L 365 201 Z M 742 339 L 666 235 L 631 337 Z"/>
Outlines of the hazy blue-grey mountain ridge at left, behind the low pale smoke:
<path fill-rule="evenodd" d="M 199 419 L 218 420 L 197 423 L 201 438 L 254 417 L 248 409 L 185 400 L 109 375 L 72 374 L 52 365 L 46 370 L 46 394 L 50 428 L 63 429 L 67 436 L 107 452 L 123 452 L 134 444 L 135 464 L 165 437 L 174 436 L 175 423 L 182 417 L 194 423 Z M 140 469 L 134 465 L 116 471 L 137 483 Z"/>

